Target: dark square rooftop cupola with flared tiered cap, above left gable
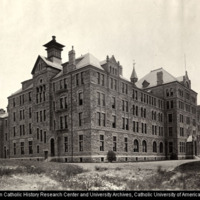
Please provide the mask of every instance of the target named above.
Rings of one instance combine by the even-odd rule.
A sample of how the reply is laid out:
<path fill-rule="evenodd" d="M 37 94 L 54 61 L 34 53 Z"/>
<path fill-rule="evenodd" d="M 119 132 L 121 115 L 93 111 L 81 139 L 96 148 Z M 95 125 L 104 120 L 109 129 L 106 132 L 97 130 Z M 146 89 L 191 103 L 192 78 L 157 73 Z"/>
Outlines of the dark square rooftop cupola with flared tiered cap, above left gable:
<path fill-rule="evenodd" d="M 49 60 L 59 64 L 62 63 L 61 51 L 65 46 L 56 42 L 56 36 L 52 36 L 52 40 L 43 46 L 46 47 L 47 58 Z"/>

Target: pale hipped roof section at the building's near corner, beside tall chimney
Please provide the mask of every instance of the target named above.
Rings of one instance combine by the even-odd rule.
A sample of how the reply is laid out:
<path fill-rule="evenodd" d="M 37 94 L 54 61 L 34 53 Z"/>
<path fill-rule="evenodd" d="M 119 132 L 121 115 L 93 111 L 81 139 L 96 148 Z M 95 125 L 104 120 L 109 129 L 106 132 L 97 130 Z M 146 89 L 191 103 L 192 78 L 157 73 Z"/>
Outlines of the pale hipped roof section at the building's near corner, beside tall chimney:
<path fill-rule="evenodd" d="M 94 67 L 103 69 L 100 65 L 100 61 L 90 53 L 87 53 L 83 56 L 80 62 L 77 63 L 76 69 L 79 69 L 88 65 L 92 65 Z"/>

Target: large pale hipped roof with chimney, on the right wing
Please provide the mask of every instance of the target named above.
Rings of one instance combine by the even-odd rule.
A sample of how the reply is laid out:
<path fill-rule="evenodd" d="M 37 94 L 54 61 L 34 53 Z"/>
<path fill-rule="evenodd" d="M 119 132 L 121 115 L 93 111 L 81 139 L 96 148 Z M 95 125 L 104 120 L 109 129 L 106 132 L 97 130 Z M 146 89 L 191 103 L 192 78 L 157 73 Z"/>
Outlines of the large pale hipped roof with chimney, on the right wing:
<path fill-rule="evenodd" d="M 146 76 L 141 78 L 137 83 L 136 86 L 138 88 L 143 88 L 144 81 L 147 81 L 149 85 L 146 88 L 157 86 L 157 73 L 162 72 L 163 73 L 163 84 L 170 83 L 174 81 L 179 81 L 177 78 L 172 76 L 170 73 L 165 71 L 163 68 L 159 68 L 156 70 L 152 70 L 150 73 L 148 73 Z"/>

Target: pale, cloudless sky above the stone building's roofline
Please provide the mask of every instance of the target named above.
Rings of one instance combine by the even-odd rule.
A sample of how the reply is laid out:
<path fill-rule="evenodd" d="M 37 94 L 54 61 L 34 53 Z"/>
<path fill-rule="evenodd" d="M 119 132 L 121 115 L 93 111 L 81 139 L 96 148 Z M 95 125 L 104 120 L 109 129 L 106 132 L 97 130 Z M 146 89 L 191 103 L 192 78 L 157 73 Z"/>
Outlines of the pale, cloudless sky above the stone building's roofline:
<path fill-rule="evenodd" d="M 73 45 L 77 57 L 89 52 L 102 61 L 114 55 L 128 79 L 133 60 L 139 79 L 160 67 L 178 77 L 186 68 L 200 93 L 197 0 L 0 0 L 0 8 L 0 108 L 32 78 L 53 35 L 65 45 L 63 62 Z"/>

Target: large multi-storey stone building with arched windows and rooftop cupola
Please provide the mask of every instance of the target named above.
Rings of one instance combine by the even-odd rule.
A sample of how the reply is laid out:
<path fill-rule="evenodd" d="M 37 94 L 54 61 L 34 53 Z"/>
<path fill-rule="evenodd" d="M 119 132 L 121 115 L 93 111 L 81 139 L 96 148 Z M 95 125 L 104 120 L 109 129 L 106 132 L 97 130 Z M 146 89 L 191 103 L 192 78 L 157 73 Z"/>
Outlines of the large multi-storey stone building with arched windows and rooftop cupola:
<path fill-rule="evenodd" d="M 64 45 L 53 36 L 44 46 L 47 58 L 38 56 L 32 79 L 8 97 L 1 157 L 104 162 L 109 150 L 117 161 L 199 153 L 197 93 L 187 73 L 175 78 L 160 68 L 138 81 L 133 66 L 129 81 L 114 56 L 76 58 L 72 47 L 62 63 Z"/>

